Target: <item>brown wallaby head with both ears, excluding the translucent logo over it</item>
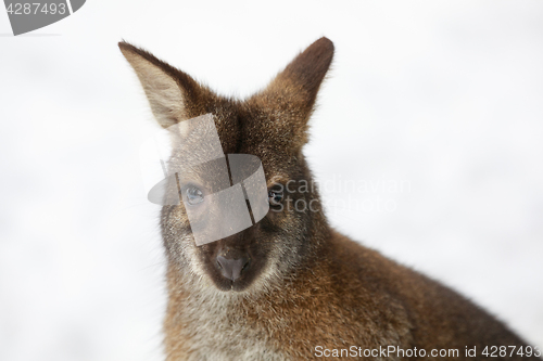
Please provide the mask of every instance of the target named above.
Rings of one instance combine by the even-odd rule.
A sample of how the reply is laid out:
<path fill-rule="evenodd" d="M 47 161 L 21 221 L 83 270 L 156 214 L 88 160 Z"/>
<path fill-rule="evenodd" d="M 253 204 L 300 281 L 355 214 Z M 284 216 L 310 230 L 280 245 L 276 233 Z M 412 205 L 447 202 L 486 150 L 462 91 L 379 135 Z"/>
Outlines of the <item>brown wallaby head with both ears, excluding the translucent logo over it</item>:
<path fill-rule="evenodd" d="M 252 294 L 288 279 L 289 272 L 310 259 L 307 254 L 318 252 L 319 240 L 328 234 L 302 147 L 317 92 L 332 61 L 332 42 L 327 38 L 315 41 L 265 89 L 244 100 L 218 95 L 144 50 L 126 42 L 119 47 L 162 127 L 213 114 L 224 153 L 257 156 L 267 180 L 267 216 L 242 232 L 201 246 L 194 244 L 185 206 L 164 206 L 162 232 L 169 267 L 193 287 L 214 284 L 215 289 Z M 190 156 L 188 139 L 188 143 L 174 145 L 171 168 Z M 213 165 L 203 171 L 182 171 L 180 183 L 191 184 L 188 192 L 205 198 L 213 189 L 213 177 L 202 175 L 213 173 Z M 206 211 L 205 202 L 195 207 Z"/>

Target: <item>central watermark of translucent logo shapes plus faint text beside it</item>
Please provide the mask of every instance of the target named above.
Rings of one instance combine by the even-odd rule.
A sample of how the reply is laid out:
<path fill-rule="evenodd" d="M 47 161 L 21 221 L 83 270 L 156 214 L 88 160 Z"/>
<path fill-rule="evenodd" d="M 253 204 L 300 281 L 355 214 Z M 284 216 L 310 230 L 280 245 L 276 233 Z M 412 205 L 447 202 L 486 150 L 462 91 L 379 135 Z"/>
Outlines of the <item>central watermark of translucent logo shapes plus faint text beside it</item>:
<path fill-rule="evenodd" d="M 411 192 L 408 180 L 384 176 L 268 183 L 258 157 L 223 153 L 212 114 L 157 131 L 142 144 L 140 159 L 148 199 L 162 206 L 182 204 L 197 245 L 239 233 L 270 211 L 317 212 L 324 207 L 391 212 L 397 208 L 395 196 Z M 320 191 L 341 196 L 320 204 Z"/>

